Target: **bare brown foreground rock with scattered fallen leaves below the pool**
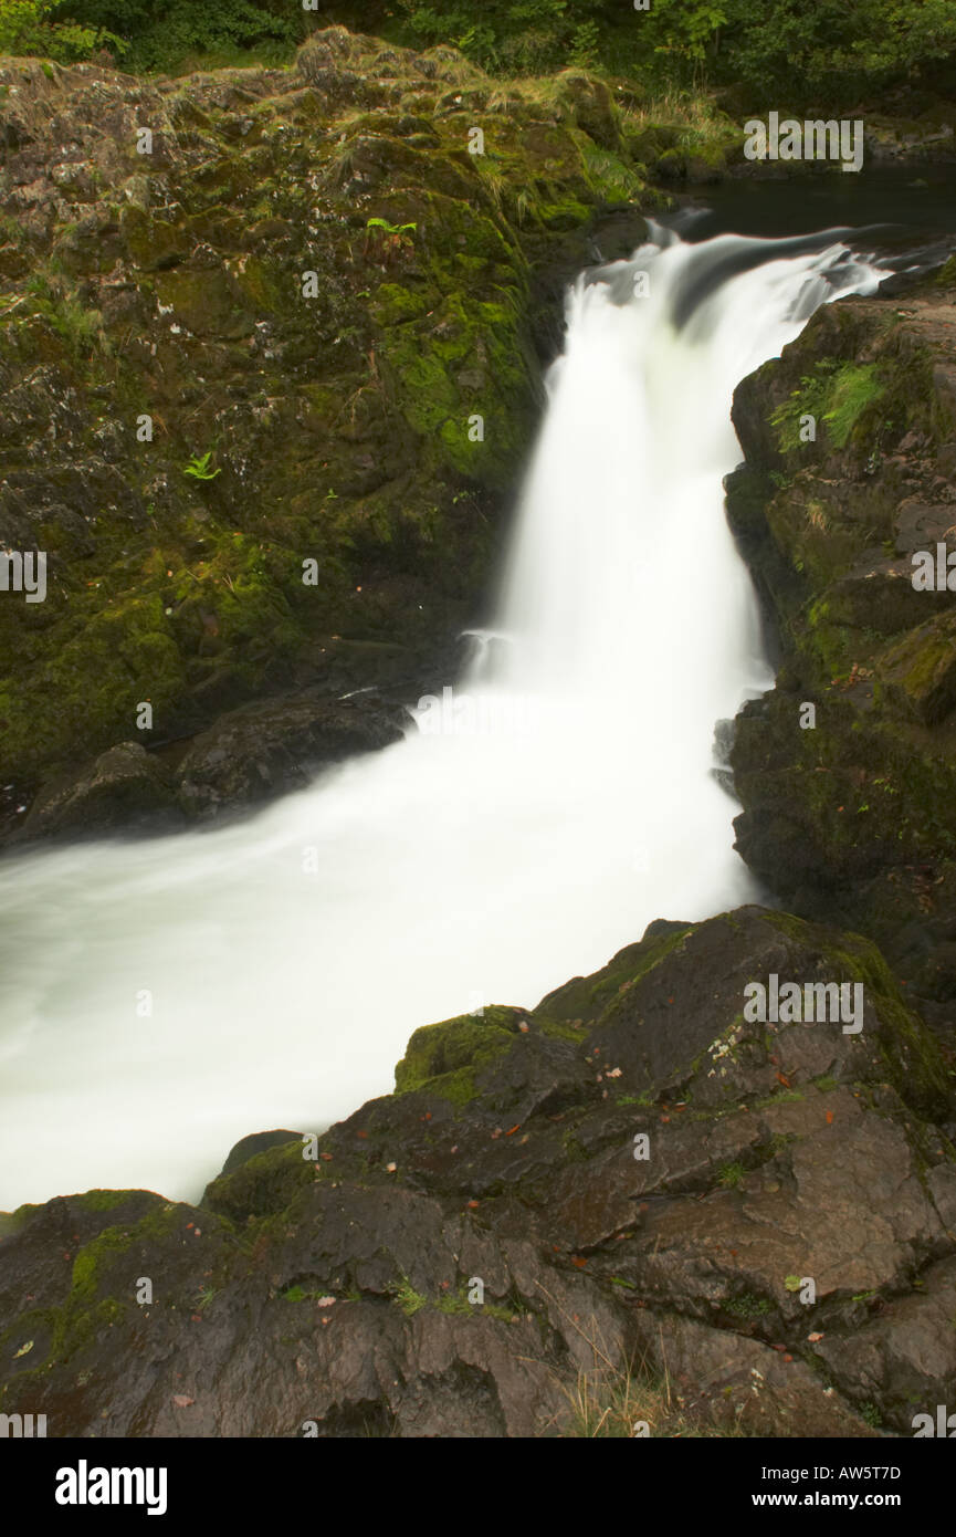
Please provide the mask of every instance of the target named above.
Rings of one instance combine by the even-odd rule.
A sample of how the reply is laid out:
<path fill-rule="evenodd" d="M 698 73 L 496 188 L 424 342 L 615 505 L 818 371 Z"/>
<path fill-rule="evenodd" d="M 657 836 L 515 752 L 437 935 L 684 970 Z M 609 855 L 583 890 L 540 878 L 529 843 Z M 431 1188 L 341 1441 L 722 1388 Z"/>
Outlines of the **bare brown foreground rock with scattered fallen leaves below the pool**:
<path fill-rule="evenodd" d="M 770 974 L 862 984 L 862 1028 L 749 1022 Z M 590 1393 L 632 1434 L 666 1376 L 696 1434 L 907 1434 L 956 1373 L 947 1114 L 859 936 L 656 924 L 532 1013 L 417 1031 L 395 1094 L 247 1139 L 198 1207 L 5 1219 L 2 1406 L 51 1436 L 541 1436 Z"/>

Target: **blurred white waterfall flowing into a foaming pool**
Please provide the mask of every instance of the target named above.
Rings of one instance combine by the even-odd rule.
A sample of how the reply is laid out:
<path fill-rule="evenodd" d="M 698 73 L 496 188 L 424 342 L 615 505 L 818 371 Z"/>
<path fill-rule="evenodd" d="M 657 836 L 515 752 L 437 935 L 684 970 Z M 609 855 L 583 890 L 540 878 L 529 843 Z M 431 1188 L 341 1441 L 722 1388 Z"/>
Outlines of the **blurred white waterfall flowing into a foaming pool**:
<path fill-rule="evenodd" d="M 878 275 L 819 241 L 659 240 L 569 298 L 501 613 L 444 709 L 241 825 L 0 865 L 0 1207 L 195 1197 L 240 1136 L 387 1093 L 418 1025 L 755 896 L 712 775 L 715 722 L 772 682 L 722 512 L 730 397 Z"/>

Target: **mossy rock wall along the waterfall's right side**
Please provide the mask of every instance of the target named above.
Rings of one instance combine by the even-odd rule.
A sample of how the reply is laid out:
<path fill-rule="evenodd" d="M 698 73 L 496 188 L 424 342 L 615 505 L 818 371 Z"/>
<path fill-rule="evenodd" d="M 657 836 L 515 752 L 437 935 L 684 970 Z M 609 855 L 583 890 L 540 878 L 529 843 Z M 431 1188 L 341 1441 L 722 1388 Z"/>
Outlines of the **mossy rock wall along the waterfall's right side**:
<path fill-rule="evenodd" d="M 738 847 L 793 911 L 876 939 L 950 1037 L 956 596 L 913 556 L 956 549 L 954 277 L 819 310 L 739 386 L 729 481 L 782 649 L 738 719 Z"/>

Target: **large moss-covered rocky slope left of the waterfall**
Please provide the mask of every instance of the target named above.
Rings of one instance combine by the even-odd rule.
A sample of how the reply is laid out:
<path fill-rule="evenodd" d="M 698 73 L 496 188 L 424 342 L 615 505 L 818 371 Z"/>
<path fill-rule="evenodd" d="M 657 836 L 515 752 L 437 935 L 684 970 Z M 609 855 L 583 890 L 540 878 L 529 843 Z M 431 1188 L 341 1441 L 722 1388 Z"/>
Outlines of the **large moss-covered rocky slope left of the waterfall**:
<path fill-rule="evenodd" d="M 292 71 L 8 60 L 0 154 L 0 546 L 48 555 L 46 601 L 0 603 L 8 832 L 77 770 L 95 815 L 115 765 L 88 793 L 85 759 L 120 742 L 447 678 L 533 432 L 543 301 L 590 215 L 616 206 L 622 244 L 641 223 L 607 88 L 512 91 L 343 28 Z M 195 815 L 152 756 L 126 753 L 117 815 Z"/>

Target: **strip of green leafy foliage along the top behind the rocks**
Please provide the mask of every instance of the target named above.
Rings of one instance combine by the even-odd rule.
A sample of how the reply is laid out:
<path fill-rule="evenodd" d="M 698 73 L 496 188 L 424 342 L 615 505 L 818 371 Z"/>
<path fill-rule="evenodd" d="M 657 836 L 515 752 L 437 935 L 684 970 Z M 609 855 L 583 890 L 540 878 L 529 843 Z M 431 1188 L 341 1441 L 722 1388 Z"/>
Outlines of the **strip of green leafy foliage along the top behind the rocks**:
<path fill-rule="evenodd" d="M 953 0 L 398 0 L 367 18 L 354 0 L 321 14 L 295 0 L 0 0 L 0 52 L 63 63 L 108 49 L 135 71 L 289 61 L 314 26 L 341 22 L 413 48 L 450 43 L 495 74 L 569 65 L 652 89 L 742 86 L 755 105 L 795 109 L 876 100 L 885 86 L 945 85 L 956 54 Z"/>

